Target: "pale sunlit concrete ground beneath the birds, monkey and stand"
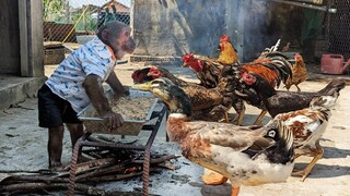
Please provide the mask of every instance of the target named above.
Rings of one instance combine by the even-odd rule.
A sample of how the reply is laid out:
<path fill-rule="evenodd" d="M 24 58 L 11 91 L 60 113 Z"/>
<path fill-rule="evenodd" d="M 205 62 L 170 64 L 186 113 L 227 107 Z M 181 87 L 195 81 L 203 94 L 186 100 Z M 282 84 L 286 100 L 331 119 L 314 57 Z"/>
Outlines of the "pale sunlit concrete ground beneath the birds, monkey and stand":
<path fill-rule="evenodd" d="M 46 75 L 50 75 L 56 66 L 46 65 Z M 131 85 L 130 74 L 133 70 L 142 68 L 142 64 L 120 65 L 116 68 L 118 77 L 125 85 Z M 179 66 L 166 66 L 175 75 L 187 79 L 196 81 L 191 71 Z M 325 82 L 307 81 L 300 85 L 302 90 L 315 91 L 323 88 Z M 292 90 L 295 90 L 294 88 Z M 260 186 L 243 186 L 242 196 L 260 195 L 350 195 L 350 121 L 348 111 L 350 108 L 350 88 L 347 86 L 341 90 L 336 108 L 320 145 L 325 149 L 325 155 L 314 167 L 305 182 L 300 177 L 291 176 L 285 183 L 266 184 Z M 244 124 L 250 124 L 259 110 L 247 106 Z M 269 120 L 265 118 L 265 123 Z M 3 170 L 39 170 L 47 169 L 47 132 L 37 126 L 37 100 L 27 99 L 22 103 L 4 109 L 0 112 L 0 173 L 3 177 Z M 120 136 L 112 136 L 121 139 Z M 141 133 L 138 137 L 127 137 L 127 139 L 144 138 Z M 69 164 L 71 146 L 69 134 L 65 135 L 65 149 L 62 156 L 63 164 Z M 178 146 L 165 142 L 164 122 L 159 131 L 156 139 L 152 146 L 152 152 L 180 155 Z M 296 168 L 306 166 L 311 158 L 296 159 Z M 173 160 L 175 171 L 163 170 L 161 174 L 150 177 L 150 193 L 164 196 L 197 196 L 197 195 L 230 195 L 230 185 L 203 186 L 200 176 L 203 169 L 184 158 Z M 110 192 L 137 192 L 142 188 L 141 177 L 128 181 L 101 184 L 98 187 Z M 52 195 L 63 195 L 63 193 L 52 193 Z"/>

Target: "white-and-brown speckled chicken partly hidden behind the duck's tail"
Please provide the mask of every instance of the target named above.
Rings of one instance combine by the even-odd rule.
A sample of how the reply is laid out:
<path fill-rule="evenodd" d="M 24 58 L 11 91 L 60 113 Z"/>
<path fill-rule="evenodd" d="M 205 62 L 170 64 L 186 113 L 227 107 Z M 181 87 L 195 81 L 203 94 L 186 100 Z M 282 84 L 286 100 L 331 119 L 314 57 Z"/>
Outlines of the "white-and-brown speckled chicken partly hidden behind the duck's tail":
<path fill-rule="evenodd" d="M 317 160 L 324 155 L 324 150 L 319 145 L 319 139 L 327 128 L 331 117 L 330 109 L 336 105 L 339 93 L 334 90 L 334 95 L 313 98 L 310 108 L 280 113 L 273 119 L 281 121 L 292 131 L 296 157 L 313 157 L 313 160 L 304 170 L 293 173 L 295 175 L 301 175 L 302 181 L 306 179 Z"/>

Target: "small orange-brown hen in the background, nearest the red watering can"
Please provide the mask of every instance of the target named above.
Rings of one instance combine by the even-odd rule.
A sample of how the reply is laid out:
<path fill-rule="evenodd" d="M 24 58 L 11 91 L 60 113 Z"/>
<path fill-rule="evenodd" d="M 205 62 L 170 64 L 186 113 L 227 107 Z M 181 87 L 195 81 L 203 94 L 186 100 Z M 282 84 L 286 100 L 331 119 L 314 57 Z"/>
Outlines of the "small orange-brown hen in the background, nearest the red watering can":
<path fill-rule="evenodd" d="M 284 85 L 285 85 L 284 87 L 287 88 L 287 90 L 289 90 L 292 85 L 295 85 L 298 88 L 298 91 L 301 91 L 298 85 L 306 81 L 307 70 L 306 70 L 306 65 L 304 63 L 303 57 L 301 54 L 295 53 L 294 59 L 295 59 L 295 63 L 293 64 L 293 68 L 292 68 L 292 76 L 290 76 L 284 82 Z"/>

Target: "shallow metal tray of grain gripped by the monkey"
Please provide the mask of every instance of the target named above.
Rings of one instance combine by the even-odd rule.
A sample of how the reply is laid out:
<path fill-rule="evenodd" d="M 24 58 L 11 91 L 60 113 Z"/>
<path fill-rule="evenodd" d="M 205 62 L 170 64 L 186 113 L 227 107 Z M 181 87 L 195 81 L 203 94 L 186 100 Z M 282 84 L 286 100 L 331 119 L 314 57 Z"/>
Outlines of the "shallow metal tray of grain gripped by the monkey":
<path fill-rule="evenodd" d="M 107 90 L 106 97 L 108 100 L 113 98 L 113 91 Z M 120 127 L 110 130 L 108 126 L 108 120 L 103 118 L 94 117 L 95 109 L 92 105 L 89 105 L 84 108 L 81 112 L 78 113 L 78 118 L 83 122 L 85 128 L 90 133 L 103 133 L 103 134 L 115 134 L 115 135 L 139 135 L 142 130 L 144 123 L 150 121 L 151 114 L 154 110 L 154 107 L 158 102 L 158 98 L 154 97 L 149 91 L 141 91 L 141 90 L 133 90 L 130 89 L 130 95 L 128 97 L 137 98 L 137 97 L 150 97 L 154 98 L 152 106 L 149 109 L 149 112 L 144 120 L 132 120 L 132 119 L 125 119 L 124 124 Z M 122 113 L 121 113 L 122 115 Z"/>

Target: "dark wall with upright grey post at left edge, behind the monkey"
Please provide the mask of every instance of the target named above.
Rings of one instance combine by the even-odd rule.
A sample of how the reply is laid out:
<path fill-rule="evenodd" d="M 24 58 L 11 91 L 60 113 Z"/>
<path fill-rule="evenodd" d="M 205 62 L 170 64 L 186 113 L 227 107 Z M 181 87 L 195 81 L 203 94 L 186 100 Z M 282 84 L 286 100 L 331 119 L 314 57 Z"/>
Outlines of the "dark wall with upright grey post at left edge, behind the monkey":
<path fill-rule="evenodd" d="M 0 37 L 0 74 L 44 76 L 42 1 L 1 0 Z"/>

